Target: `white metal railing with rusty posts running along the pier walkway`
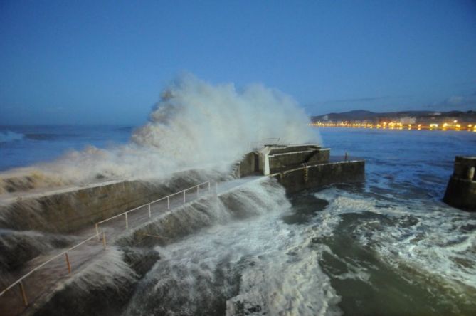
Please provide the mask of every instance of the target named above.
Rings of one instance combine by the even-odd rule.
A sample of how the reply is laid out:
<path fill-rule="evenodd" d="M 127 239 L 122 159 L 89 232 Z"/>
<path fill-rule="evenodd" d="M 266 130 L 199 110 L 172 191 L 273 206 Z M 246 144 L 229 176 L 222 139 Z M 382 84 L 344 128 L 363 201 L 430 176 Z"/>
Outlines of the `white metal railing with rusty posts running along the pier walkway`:
<path fill-rule="evenodd" d="M 181 196 L 180 197 L 180 201 L 181 201 L 181 204 L 180 205 L 183 205 L 187 202 L 187 194 L 193 194 L 195 191 L 195 194 L 193 194 L 193 199 L 189 199 L 189 201 L 191 200 L 194 200 L 196 198 L 199 198 L 199 195 L 201 193 L 201 191 L 203 192 L 203 190 L 206 190 L 207 192 L 210 192 L 211 191 L 211 182 L 210 181 L 206 181 L 206 182 L 203 182 L 201 184 L 197 184 L 195 186 L 191 186 L 190 188 L 187 188 L 187 189 L 184 189 L 184 190 L 181 190 L 179 192 L 176 192 L 174 194 L 170 194 L 169 196 L 164 196 L 163 198 L 161 199 L 157 199 L 155 201 L 151 201 L 147 204 L 143 204 L 142 206 L 137 206 L 136 208 L 134 209 L 129 209 L 128 211 L 125 211 L 121 214 L 117 214 L 115 216 L 112 216 L 110 218 L 106 218 L 105 220 L 103 221 L 100 221 L 100 222 L 97 222 L 95 224 L 95 229 L 96 229 L 96 233 L 95 235 L 93 236 L 90 236 L 89 238 L 86 238 L 84 241 L 81 241 L 80 243 L 76 244 L 75 246 L 72 246 L 68 249 L 66 249 L 65 251 L 62 251 L 60 253 L 58 253 L 57 255 L 53 256 L 52 258 L 46 260 L 44 263 L 41 263 L 40 265 L 36 266 L 36 268 L 33 268 L 31 271 L 29 271 L 28 273 L 26 273 L 25 275 L 21 276 L 21 278 L 18 278 L 18 280 L 16 280 L 14 283 L 11 283 L 11 285 L 9 285 L 7 288 L 5 288 L 3 291 L 1 291 L 0 293 L 0 297 L 2 297 L 3 295 L 5 295 L 5 293 L 9 292 L 9 290 L 12 290 L 14 289 L 17 285 L 18 285 L 18 288 L 20 290 L 20 294 L 21 294 L 21 300 L 23 302 L 23 305 L 24 307 L 27 307 L 28 306 L 28 295 L 26 293 L 26 287 L 24 285 L 24 282 L 25 280 L 30 277 L 31 275 L 33 275 L 34 273 L 38 272 L 38 270 L 40 270 L 41 268 L 43 267 L 46 267 L 46 265 L 48 264 L 51 264 L 53 263 L 53 261 L 57 260 L 58 258 L 64 256 L 64 263 L 65 264 L 65 270 L 68 270 L 68 274 L 70 274 L 73 270 L 72 268 L 72 265 L 71 265 L 71 256 L 70 256 L 70 253 L 79 248 L 80 246 L 83 246 L 85 245 L 85 243 L 88 243 L 88 241 L 92 241 L 93 239 L 96 239 L 98 241 L 102 241 L 102 247 L 105 249 L 106 248 L 106 234 L 105 234 L 105 231 L 100 231 L 100 225 L 103 224 L 103 223 L 106 223 L 107 221 L 111 221 L 112 219 L 114 218 L 119 218 L 120 216 L 125 216 L 125 228 L 129 228 L 129 219 L 128 219 L 128 214 L 131 214 L 132 212 L 134 211 L 137 211 L 139 209 L 142 209 L 142 208 L 145 208 L 147 207 L 147 212 L 148 212 L 148 216 L 147 216 L 147 219 L 148 218 L 151 218 L 152 217 L 152 204 L 156 204 L 160 201 L 166 201 L 166 206 L 167 206 L 167 211 L 170 211 L 171 208 L 173 208 L 172 204 L 171 204 L 171 201 L 172 201 L 172 198 L 175 197 L 175 196 L 179 196 L 181 194 L 183 194 L 183 197 Z M 192 191 L 192 193 L 190 193 Z M 179 206 L 179 205 L 177 205 Z M 95 246 L 97 246 L 97 242 L 95 243 Z M 84 255 L 84 253 L 82 254 Z M 88 253 L 86 253 L 86 255 L 88 255 Z M 90 254 L 89 254 L 90 255 Z M 79 256 L 78 256 L 79 257 Z M 82 258 L 83 262 L 85 260 L 88 260 L 90 256 L 86 256 Z M 57 263 L 58 264 L 58 263 Z M 78 263 L 79 265 L 79 263 Z M 53 267 L 51 267 L 53 268 Z M 65 271 L 64 270 L 64 271 Z M 65 274 L 65 273 L 63 273 Z M 48 275 L 51 275 L 51 273 L 48 273 Z M 38 297 L 38 295 L 40 295 L 41 293 L 36 293 L 35 295 L 35 298 Z M 11 315 L 15 315 L 15 311 L 14 311 L 14 308 L 9 305 L 9 309 L 11 307 Z M 23 308 L 24 308 L 23 307 Z M 18 311 L 18 313 L 21 312 L 21 310 Z M 2 311 L 1 313 L 2 315 L 4 314 L 4 311 Z"/>

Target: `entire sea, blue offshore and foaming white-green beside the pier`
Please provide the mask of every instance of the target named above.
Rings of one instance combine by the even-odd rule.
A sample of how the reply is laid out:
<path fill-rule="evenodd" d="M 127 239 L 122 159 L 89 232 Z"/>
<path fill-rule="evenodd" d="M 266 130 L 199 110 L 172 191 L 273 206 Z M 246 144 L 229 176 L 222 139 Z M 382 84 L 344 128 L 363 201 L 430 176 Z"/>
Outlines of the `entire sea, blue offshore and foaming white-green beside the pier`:
<path fill-rule="evenodd" d="M 132 130 L 0 127 L 0 170 L 125 144 Z M 476 214 L 442 201 L 476 133 L 319 132 L 331 155 L 365 159 L 363 183 L 292 195 L 250 184 L 252 215 L 158 246 L 123 315 L 476 315 Z"/>

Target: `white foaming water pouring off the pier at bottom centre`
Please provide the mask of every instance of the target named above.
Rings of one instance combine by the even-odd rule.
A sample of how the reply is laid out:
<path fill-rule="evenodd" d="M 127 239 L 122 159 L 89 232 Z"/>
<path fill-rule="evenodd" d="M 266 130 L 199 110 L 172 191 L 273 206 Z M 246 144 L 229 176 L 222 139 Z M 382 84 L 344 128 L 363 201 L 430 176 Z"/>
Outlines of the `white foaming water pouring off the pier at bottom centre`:
<path fill-rule="evenodd" d="M 221 210 L 252 218 L 158 247 L 162 258 L 125 315 L 338 314 L 339 296 L 310 248 L 314 235 L 282 221 L 290 204 L 282 187 L 268 181 L 233 192 L 239 203 Z"/>

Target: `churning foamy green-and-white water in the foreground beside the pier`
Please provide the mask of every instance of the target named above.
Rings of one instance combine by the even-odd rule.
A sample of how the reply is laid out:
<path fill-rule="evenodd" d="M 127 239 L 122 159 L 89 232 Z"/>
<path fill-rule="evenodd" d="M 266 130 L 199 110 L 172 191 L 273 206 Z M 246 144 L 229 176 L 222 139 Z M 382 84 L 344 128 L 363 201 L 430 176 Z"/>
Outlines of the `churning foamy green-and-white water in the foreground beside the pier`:
<path fill-rule="evenodd" d="M 302 206 L 312 211 L 311 202 L 291 206 L 282 188 L 267 181 L 233 191 L 233 203 L 226 204 L 231 207 L 214 209 L 228 214 L 216 226 L 157 247 L 162 258 L 124 314 L 471 315 L 475 310 L 472 214 L 371 188 L 332 187 L 311 195 L 329 205 L 296 224 L 283 219 Z"/>

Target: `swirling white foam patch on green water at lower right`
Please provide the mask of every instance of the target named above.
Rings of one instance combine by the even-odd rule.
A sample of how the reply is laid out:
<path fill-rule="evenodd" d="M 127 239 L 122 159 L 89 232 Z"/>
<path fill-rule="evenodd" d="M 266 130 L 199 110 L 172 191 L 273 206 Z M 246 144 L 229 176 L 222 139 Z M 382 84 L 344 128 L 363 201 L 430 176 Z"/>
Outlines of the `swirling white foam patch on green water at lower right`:
<path fill-rule="evenodd" d="M 449 214 L 448 208 L 418 200 L 392 204 L 337 189 L 316 195 L 330 201 L 325 212 L 335 218 L 364 211 L 385 216 L 363 220 L 350 233 L 396 270 L 403 264 L 458 293 L 464 292 L 461 285 L 476 290 L 476 220 L 470 214 L 456 209 Z"/>

